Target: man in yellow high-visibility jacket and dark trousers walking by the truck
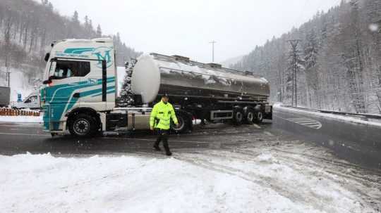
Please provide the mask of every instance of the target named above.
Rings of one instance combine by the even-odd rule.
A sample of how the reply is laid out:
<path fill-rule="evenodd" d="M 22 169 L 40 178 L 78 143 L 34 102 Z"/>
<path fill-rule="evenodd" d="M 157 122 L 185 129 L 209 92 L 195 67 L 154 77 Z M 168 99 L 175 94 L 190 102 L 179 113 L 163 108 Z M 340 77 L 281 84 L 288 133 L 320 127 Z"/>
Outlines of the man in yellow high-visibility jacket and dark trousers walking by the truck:
<path fill-rule="evenodd" d="M 167 94 L 164 94 L 164 96 L 162 96 L 162 101 L 155 104 L 150 116 L 150 129 L 152 131 L 157 131 L 157 134 L 159 135 L 157 136 L 157 140 L 154 144 L 155 150 L 161 150 L 159 148 L 159 143 L 160 141 L 163 141 L 165 153 L 168 156 L 171 156 L 172 153 L 169 150 L 168 145 L 168 134 L 169 129 L 171 128 L 171 120 L 174 121 L 174 124 L 176 124 L 176 126 L 179 125 L 179 122 L 177 122 L 174 107 L 170 103 L 168 103 L 168 101 L 169 96 Z"/>

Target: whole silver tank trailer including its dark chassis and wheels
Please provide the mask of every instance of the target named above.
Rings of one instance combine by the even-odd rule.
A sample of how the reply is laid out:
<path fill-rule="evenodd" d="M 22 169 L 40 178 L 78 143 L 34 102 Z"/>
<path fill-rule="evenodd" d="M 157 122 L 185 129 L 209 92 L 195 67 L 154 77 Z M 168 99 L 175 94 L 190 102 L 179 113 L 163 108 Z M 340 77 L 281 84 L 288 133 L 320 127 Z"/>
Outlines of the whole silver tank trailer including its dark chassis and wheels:
<path fill-rule="evenodd" d="M 138 58 L 131 87 L 136 103 L 150 107 L 168 93 L 181 121 L 179 131 L 191 129 L 194 119 L 234 124 L 272 119 L 266 79 L 214 63 L 151 53 Z"/>

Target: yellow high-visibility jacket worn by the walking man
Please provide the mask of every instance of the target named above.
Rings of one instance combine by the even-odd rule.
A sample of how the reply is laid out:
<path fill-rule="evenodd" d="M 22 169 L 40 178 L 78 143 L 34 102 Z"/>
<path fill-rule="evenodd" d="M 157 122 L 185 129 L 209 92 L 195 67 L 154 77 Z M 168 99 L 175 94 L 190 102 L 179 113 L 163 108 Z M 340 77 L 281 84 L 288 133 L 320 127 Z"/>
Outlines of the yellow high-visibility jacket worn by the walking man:
<path fill-rule="evenodd" d="M 163 101 L 160 101 L 152 109 L 150 127 L 164 130 L 170 129 L 171 119 L 175 124 L 178 124 L 174 107 L 170 103 L 165 104 Z"/>

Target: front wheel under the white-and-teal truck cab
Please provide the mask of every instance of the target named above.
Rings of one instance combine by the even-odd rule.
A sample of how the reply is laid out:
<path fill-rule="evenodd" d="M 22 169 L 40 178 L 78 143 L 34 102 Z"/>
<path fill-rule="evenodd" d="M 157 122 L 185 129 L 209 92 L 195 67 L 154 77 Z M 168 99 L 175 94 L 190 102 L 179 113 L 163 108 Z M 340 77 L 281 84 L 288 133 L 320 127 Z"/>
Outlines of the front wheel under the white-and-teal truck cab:
<path fill-rule="evenodd" d="M 79 114 L 68 122 L 70 134 L 78 137 L 92 136 L 97 132 L 97 121 L 90 115 Z"/>

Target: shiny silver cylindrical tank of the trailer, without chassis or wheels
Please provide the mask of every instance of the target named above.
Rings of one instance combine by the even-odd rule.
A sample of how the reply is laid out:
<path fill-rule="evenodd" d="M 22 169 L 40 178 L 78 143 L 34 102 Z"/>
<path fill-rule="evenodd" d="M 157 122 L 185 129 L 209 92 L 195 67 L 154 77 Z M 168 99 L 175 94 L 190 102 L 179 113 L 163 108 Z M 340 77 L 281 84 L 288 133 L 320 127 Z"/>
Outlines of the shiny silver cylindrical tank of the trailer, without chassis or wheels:
<path fill-rule="evenodd" d="M 131 79 L 133 93 L 151 103 L 159 94 L 235 100 L 267 101 L 270 86 L 252 72 L 242 72 L 219 64 L 199 63 L 184 56 L 150 53 L 138 58 Z"/>

